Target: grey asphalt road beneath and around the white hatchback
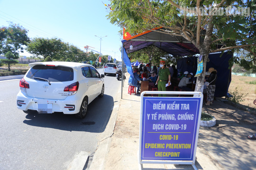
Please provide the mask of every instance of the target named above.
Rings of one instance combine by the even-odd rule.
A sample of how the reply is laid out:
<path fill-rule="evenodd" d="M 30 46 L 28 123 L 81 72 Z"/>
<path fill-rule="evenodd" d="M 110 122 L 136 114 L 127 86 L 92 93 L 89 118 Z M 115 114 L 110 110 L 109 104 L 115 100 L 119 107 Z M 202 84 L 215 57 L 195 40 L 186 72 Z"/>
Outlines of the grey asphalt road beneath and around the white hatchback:
<path fill-rule="evenodd" d="M 79 153 L 93 156 L 120 98 L 121 81 L 115 76 L 104 81 L 103 98 L 89 104 L 82 120 L 60 113 L 28 115 L 16 107 L 19 79 L 0 81 L 0 170 L 65 170 Z"/>

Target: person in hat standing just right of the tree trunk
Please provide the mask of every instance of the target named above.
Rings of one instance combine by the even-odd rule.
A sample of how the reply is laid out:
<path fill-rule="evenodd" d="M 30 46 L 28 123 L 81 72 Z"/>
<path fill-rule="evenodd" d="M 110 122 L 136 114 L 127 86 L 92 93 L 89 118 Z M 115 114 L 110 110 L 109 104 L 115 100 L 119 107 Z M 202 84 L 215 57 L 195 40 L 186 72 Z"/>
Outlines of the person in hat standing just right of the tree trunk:
<path fill-rule="evenodd" d="M 215 83 L 217 80 L 217 70 L 214 68 L 209 68 L 208 72 L 210 73 L 210 76 L 205 82 L 208 82 L 206 87 L 206 93 L 207 93 L 207 102 L 205 105 L 210 106 L 212 104 L 213 98 L 214 98 L 214 92 L 215 92 Z"/>

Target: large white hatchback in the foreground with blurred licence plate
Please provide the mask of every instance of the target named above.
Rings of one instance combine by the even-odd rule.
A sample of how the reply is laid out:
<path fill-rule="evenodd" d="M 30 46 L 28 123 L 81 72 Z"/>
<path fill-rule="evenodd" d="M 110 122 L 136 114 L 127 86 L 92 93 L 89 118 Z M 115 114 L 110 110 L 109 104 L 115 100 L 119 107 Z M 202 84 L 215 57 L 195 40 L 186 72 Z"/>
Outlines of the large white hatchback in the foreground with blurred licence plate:
<path fill-rule="evenodd" d="M 104 75 L 90 64 L 51 61 L 29 67 L 17 95 L 17 107 L 25 113 L 63 112 L 83 119 L 88 104 L 104 95 Z"/>

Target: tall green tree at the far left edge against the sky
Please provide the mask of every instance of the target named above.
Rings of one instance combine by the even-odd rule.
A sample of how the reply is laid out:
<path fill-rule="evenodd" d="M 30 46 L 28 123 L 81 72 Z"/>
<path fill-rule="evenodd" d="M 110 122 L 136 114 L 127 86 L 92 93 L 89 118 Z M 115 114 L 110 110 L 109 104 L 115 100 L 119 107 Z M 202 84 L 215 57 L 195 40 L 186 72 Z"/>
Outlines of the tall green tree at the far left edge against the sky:
<path fill-rule="evenodd" d="M 11 51 L 14 59 L 18 59 L 18 50 L 23 52 L 24 45 L 30 41 L 27 32 L 27 29 L 13 23 L 9 23 L 8 27 L 0 27 L 0 54 Z"/>

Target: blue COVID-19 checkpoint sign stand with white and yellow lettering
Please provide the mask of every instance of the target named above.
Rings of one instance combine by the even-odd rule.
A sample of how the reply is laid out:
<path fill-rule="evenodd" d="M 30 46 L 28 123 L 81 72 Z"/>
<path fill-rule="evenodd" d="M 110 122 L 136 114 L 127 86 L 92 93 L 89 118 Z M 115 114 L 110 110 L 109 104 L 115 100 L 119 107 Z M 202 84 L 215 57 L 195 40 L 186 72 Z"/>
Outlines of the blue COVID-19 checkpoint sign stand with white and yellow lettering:
<path fill-rule="evenodd" d="M 193 97 L 148 97 L 144 94 L 190 94 Z M 139 163 L 191 164 L 195 155 L 203 95 L 200 92 L 141 93 Z"/>

